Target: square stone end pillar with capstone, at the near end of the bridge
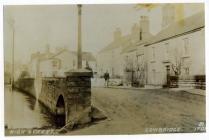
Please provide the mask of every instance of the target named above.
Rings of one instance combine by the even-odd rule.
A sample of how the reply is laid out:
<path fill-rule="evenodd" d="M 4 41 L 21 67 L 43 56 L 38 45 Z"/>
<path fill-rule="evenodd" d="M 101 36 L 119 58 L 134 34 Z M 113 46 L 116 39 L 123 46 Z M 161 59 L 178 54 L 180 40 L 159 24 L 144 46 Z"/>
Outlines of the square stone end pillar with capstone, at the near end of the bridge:
<path fill-rule="evenodd" d="M 91 121 L 91 77 L 88 70 L 66 72 L 67 111 L 66 124 L 84 124 Z"/>

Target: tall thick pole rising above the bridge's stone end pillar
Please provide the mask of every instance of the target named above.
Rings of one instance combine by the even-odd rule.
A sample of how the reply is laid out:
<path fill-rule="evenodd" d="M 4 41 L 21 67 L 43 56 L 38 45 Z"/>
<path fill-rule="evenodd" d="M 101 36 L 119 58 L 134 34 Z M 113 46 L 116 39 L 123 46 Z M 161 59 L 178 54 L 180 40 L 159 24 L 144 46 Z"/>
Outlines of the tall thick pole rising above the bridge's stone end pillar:
<path fill-rule="evenodd" d="M 82 15 L 82 5 L 78 4 L 78 48 L 77 48 L 77 68 L 82 68 L 82 40 L 81 40 L 81 15 Z"/>

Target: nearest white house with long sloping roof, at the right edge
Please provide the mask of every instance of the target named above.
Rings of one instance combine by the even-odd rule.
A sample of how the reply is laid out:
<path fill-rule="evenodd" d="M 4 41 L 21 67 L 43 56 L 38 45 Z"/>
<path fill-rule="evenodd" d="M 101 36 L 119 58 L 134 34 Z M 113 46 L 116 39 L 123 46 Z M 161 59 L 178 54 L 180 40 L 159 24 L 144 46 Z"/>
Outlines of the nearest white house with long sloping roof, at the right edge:
<path fill-rule="evenodd" d="M 205 75 L 204 12 L 171 23 L 145 49 L 147 84 L 165 85 L 169 74 L 178 76 L 180 85 L 191 86 L 195 76 Z"/>

